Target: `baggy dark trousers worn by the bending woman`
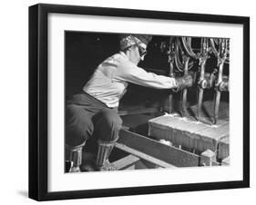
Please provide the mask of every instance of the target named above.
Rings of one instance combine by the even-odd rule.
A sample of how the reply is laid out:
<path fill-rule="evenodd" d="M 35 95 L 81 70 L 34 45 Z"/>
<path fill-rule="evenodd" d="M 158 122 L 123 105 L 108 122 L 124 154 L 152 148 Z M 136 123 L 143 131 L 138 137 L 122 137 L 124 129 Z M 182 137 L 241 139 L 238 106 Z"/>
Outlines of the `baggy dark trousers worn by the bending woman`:
<path fill-rule="evenodd" d="M 87 93 L 78 93 L 67 98 L 66 145 L 84 146 L 89 138 L 105 142 L 118 140 L 122 120 L 117 109 L 98 101 Z"/>

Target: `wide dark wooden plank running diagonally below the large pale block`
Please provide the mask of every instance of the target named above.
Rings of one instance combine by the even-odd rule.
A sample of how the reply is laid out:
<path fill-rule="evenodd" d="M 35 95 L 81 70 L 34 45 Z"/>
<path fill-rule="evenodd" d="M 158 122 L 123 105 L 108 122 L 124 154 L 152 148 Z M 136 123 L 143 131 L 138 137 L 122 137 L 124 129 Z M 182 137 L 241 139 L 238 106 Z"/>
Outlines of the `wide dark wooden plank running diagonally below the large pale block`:
<path fill-rule="evenodd" d="M 123 144 L 135 151 L 142 152 L 152 158 L 165 161 L 176 167 L 194 167 L 200 165 L 200 156 L 189 151 L 162 144 L 134 132 L 121 130 L 118 144 Z"/>

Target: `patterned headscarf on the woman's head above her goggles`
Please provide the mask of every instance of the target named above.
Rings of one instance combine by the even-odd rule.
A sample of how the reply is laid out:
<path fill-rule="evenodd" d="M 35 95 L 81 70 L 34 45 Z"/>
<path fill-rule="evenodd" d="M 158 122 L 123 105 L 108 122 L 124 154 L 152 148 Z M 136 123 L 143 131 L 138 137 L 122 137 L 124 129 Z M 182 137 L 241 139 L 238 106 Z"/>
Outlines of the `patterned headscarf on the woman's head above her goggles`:
<path fill-rule="evenodd" d="M 126 48 L 138 44 L 138 46 L 142 47 L 146 50 L 148 42 L 151 40 L 152 36 L 150 35 L 142 35 L 142 34 L 128 34 L 120 36 L 120 49 L 125 50 Z"/>

